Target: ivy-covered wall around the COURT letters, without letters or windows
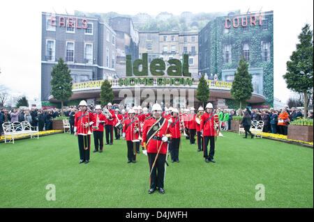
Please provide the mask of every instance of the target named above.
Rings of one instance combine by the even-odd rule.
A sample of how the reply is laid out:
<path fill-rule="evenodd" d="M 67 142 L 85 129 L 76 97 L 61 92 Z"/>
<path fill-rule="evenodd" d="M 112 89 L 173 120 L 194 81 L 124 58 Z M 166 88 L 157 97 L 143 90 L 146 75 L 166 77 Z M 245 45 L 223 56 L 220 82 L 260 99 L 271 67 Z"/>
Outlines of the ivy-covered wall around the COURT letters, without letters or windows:
<path fill-rule="evenodd" d="M 255 15 L 256 18 L 255 25 L 252 26 L 250 26 L 251 15 Z M 264 25 L 260 25 L 258 15 L 262 15 Z M 227 23 L 228 26 L 230 25 L 228 30 L 225 30 L 226 18 L 230 19 Z M 238 27 L 233 26 L 234 18 L 239 18 L 239 20 L 235 19 L 236 26 L 237 21 L 239 21 Z M 242 18 L 244 25 L 247 18 L 248 26 L 246 28 L 241 25 Z M 265 29 L 266 26 L 267 29 Z M 262 42 L 269 42 L 269 61 L 262 60 Z M 248 68 L 263 69 L 263 95 L 267 100 L 265 104 L 272 106 L 274 103 L 274 15 L 272 11 L 217 17 L 209 22 L 199 34 L 199 44 L 202 46 L 202 49 L 199 47 L 202 53 L 199 56 L 199 70 L 201 73 L 217 74 L 218 79 L 222 80 L 223 70 L 237 69 L 244 43 L 249 45 Z M 225 45 L 231 45 L 231 61 L 229 63 L 225 63 L 223 59 L 223 47 Z M 207 51 L 210 58 L 205 55 Z"/>

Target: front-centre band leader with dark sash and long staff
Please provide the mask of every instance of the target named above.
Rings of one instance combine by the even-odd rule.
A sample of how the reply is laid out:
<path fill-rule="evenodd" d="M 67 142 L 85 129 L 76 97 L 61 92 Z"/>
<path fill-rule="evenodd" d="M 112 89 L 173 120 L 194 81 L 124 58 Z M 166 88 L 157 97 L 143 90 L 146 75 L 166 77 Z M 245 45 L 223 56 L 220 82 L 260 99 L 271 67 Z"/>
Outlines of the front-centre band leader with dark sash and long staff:
<path fill-rule="evenodd" d="M 154 193 L 157 188 L 159 189 L 159 192 L 163 194 L 165 193 L 163 187 L 167 141 L 168 137 L 170 137 L 170 134 L 167 134 L 168 120 L 161 116 L 163 109 L 161 109 L 160 104 L 154 104 L 151 113 L 153 114 L 153 118 L 149 118 L 149 120 L 144 122 L 142 131 L 142 145 L 144 146 L 143 153 L 148 155 L 149 172 L 151 173 L 149 194 Z M 159 148 L 160 150 L 158 152 Z M 155 165 L 153 168 L 154 162 Z"/>

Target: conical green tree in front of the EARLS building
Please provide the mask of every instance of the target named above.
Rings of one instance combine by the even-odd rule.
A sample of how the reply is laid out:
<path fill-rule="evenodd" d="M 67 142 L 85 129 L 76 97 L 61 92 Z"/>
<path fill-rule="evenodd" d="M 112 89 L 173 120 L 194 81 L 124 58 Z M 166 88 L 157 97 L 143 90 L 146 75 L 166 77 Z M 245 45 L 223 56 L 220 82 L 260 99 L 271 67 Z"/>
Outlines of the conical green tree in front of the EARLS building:
<path fill-rule="evenodd" d="M 63 102 L 67 102 L 72 96 L 72 77 L 71 70 L 64 63 L 62 58 L 59 58 L 57 65 L 54 65 L 51 71 L 52 79 L 51 95 L 56 100 L 61 100 L 61 115 L 63 116 Z"/>

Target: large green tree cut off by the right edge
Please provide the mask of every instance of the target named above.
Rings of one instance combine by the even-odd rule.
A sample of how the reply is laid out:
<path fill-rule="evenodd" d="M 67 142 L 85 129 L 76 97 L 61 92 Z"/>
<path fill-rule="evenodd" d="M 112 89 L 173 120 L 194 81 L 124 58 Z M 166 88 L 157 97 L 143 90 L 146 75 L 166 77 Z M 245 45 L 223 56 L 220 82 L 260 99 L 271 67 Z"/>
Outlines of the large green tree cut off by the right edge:
<path fill-rule="evenodd" d="M 307 115 L 308 94 L 313 92 L 313 31 L 306 24 L 298 36 L 297 50 L 292 52 L 287 61 L 287 72 L 283 79 L 287 88 L 304 97 L 304 118 Z"/>

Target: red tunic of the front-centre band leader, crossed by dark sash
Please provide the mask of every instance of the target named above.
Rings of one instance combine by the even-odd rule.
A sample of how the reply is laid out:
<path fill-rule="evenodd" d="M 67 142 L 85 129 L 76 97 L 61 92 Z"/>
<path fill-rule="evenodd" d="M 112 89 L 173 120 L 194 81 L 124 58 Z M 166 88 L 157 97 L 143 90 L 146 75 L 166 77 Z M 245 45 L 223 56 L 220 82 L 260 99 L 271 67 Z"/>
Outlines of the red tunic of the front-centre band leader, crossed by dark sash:
<path fill-rule="evenodd" d="M 147 132 L 149 131 L 149 128 L 154 125 L 154 123 L 156 122 L 155 118 L 149 118 L 149 120 L 146 120 L 144 122 L 144 126 L 142 129 L 142 146 L 144 146 L 144 143 L 147 143 L 147 140 L 149 138 L 147 138 Z M 155 136 L 158 137 L 163 137 L 165 136 L 168 132 L 166 132 L 167 130 L 167 125 L 168 125 L 168 120 L 165 119 L 165 123 L 163 124 L 163 127 L 161 127 L 161 129 L 158 129 L 158 132 L 155 134 Z M 159 127 L 158 127 L 159 128 Z M 153 138 L 151 138 L 149 140 L 149 143 L 147 144 L 147 152 L 158 152 L 158 148 L 160 146 L 160 144 L 163 141 L 156 141 Z M 160 148 L 160 154 L 166 154 L 167 153 L 167 143 L 163 143 L 163 145 L 161 145 Z"/>

